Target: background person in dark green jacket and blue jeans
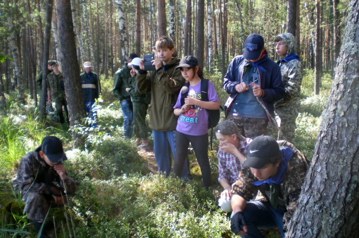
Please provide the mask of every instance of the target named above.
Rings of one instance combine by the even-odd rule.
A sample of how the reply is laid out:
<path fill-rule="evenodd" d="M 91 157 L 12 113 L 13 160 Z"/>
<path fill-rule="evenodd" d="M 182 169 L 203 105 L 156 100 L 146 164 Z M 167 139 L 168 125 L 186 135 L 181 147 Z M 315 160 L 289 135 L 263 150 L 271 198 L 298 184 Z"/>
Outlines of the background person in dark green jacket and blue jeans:
<path fill-rule="evenodd" d="M 129 57 L 129 63 L 138 56 L 132 53 Z M 134 109 L 131 101 L 130 93 L 126 88 L 131 88 L 131 74 L 132 66 L 125 63 L 124 68 L 117 70 L 113 79 L 113 96 L 121 103 L 121 110 L 124 116 L 124 137 L 131 138 L 134 130 Z"/>

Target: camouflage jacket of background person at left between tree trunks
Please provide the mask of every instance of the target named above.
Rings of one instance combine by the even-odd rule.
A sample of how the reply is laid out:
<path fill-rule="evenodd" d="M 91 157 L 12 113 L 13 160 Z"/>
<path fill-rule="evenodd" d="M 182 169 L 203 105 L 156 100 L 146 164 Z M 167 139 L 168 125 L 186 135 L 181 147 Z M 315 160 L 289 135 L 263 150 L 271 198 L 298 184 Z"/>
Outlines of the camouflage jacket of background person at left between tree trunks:
<path fill-rule="evenodd" d="M 47 90 L 50 90 L 50 98 L 53 102 L 66 102 L 64 76 L 60 74 L 55 75 L 54 72 L 47 76 Z"/>

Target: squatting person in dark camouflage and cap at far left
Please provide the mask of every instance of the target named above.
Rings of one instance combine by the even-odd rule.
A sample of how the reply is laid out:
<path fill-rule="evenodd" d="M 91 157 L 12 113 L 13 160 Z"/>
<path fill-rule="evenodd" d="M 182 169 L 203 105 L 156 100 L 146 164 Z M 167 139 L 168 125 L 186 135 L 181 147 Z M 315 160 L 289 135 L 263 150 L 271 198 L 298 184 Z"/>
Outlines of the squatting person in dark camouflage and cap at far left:
<path fill-rule="evenodd" d="M 76 190 L 76 183 L 65 170 L 67 160 L 62 143 L 55 136 L 46 136 L 41 145 L 27 153 L 20 161 L 14 188 L 25 201 L 27 218 L 31 219 L 36 233 L 40 231 L 50 204 L 62 204 L 65 195 Z M 46 232 L 42 231 L 42 237 Z"/>

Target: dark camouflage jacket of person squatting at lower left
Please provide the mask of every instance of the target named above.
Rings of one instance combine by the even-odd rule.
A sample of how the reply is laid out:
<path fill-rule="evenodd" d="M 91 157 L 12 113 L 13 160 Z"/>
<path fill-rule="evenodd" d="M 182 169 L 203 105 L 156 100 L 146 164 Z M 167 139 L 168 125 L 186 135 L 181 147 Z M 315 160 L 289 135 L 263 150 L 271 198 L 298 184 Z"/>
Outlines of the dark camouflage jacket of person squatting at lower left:
<path fill-rule="evenodd" d="M 58 173 L 53 167 L 50 167 L 39 155 L 40 147 L 35 151 L 27 153 L 20 161 L 18 172 L 13 180 L 16 191 L 21 192 L 23 199 L 26 193 L 38 192 L 42 194 L 52 194 L 49 186 L 53 186 L 54 182 L 62 191 L 66 188 L 67 194 L 72 194 L 76 190 L 76 183 L 66 171 L 66 178 L 60 179 Z M 59 164 L 63 164 L 60 162 Z"/>

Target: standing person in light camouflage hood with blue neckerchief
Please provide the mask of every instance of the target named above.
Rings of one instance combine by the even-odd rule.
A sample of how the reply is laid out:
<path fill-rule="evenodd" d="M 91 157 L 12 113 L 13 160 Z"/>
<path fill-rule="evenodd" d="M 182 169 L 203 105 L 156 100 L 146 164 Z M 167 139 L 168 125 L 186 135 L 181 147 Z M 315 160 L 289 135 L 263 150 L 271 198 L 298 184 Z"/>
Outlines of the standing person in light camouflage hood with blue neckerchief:
<path fill-rule="evenodd" d="M 274 42 L 276 53 L 283 59 L 277 63 L 281 68 L 282 81 L 285 88 L 284 98 L 274 105 L 274 110 L 281 119 L 280 128 L 285 140 L 294 143 L 295 120 L 300 107 L 300 86 L 302 84 L 303 69 L 299 56 L 295 51 L 295 38 L 290 33 L 278 35 Z"/>

